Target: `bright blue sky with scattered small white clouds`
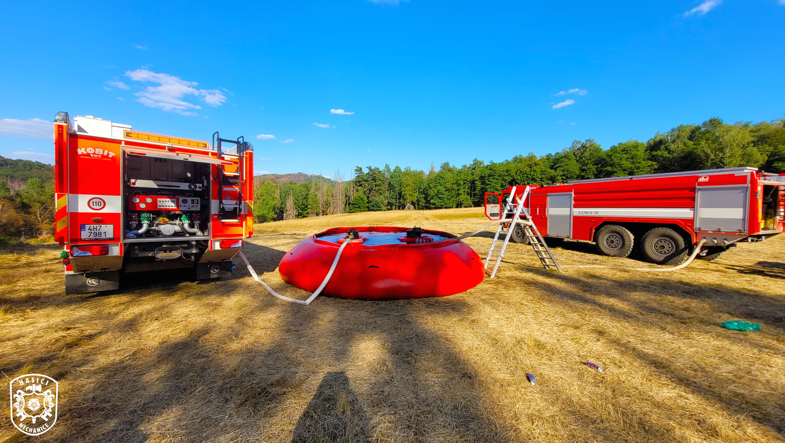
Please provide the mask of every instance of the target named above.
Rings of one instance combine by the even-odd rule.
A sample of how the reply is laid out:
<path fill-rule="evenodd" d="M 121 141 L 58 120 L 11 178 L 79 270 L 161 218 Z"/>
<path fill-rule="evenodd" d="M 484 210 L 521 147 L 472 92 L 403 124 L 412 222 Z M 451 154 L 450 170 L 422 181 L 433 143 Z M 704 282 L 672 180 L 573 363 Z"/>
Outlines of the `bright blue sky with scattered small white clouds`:
<path fill-rule="evenodd" d="M 58 111 L 327 176 L 783 117 L 785 0 L 593 3 L 9 2 L 0 155 L 52 163 Z"/>

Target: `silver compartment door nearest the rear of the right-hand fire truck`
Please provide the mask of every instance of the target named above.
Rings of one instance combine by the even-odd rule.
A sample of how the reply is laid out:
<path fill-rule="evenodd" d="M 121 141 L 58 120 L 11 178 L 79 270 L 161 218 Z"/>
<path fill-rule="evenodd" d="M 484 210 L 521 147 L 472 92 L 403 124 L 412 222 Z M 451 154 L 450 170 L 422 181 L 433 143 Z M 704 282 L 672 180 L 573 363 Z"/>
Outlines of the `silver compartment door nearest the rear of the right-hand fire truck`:
<path fill-rule="evenodd" d="M 747 186 L 700 187 L 696 193 L 696 231 L 747 232 Z"/>

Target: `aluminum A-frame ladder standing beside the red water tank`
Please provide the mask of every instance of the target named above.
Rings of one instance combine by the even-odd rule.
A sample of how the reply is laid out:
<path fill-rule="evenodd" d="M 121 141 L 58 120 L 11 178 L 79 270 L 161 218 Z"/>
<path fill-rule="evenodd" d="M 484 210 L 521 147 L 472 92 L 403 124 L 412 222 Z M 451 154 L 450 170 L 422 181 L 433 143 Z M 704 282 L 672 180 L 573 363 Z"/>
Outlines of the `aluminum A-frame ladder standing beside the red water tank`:
<path fill-rule="evenodd" d="M 488 263 L 495 262 L 493 271 L 491 271 L 491 278 L 496 276 L 498 265 L 502 262 L 502 258 L 504 258 L 504 252 L 507 250 L 507 243 L 509 243 L 509 238 L 513 235 L 515 227 L 520 224 L 524 229 L 524 235 L 526 236 L 527 240 L 529 240 L 529 244 L 532 248 L 534 248 L 537 258 L 539 258 L 540 263 L 542 263 L 542 267 L 545 269 L 555 268 L 558 269 L 559 272 L 562 272 L 559 262 L 557 262 L 556 258 L 553 257 L 553 252 L 550 251 L 550 247 L 548 247 L 548 245 L 545 243 L 542 235 L 540 235 L 539 231 L 537 230 L 537 226 L 531 222 L 531 218 L 529 217 L 529 210 L 526 207 L 526 199 L 528 198 L 531 189 L 527 186 L 526 190 L 524 191 L 524 195 L 521 196 L 517 202 L 515 202 L 513 200 L 515 199 L 516 188 L 516 186 L 513 186 L 513 189 L 511 192 L 509 192 L 507 203 L 505 204 L 504 211 L 502 211 L 502 220 L 509 218 L 509 215 L 512 215 L 512 220 L 509 221 L 507 229 L 504 228 L 504 223 L 498 224 L 498 227 L 496 228 L 496 235 L 493 237 L 493 241 L 491 242 L 491 249 L 488 250 L 487 258 L 485 258 L 485 269 L 487 269 Z M 500 234 L 505 234 L 503 242 L 498 238 Z M 497 249 L 496 243 L 498 242 L 502 242 L 502 247 Z M 493 256 L 494 252 L 498 252 L 498 255 L 495 258 Z"/>

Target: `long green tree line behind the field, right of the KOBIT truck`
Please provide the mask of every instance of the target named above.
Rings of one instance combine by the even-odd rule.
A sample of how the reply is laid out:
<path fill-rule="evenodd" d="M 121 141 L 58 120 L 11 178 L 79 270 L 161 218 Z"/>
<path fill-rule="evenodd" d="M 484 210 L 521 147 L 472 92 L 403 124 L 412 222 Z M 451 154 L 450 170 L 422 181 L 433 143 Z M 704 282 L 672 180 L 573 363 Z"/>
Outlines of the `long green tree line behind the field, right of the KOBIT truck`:
<path fill-rule="evenodd" d="M 590 178 L 725 167 L 785 172 L 785 119 L 736 124 L 713 118 L 681 125 L 648 141 L 630 140 L 603 149 L 596 141 L 573 141 L 560 152 L 514 156 L 502 162 L 474 159 L 456 167 L 401 169 L 356 167 L 349 178 L 297 184 L 259 181 L 254 190 L 257 223 L 345 212 L 475 207 L 485 192 L 509 185 L 548 185 Z"/>

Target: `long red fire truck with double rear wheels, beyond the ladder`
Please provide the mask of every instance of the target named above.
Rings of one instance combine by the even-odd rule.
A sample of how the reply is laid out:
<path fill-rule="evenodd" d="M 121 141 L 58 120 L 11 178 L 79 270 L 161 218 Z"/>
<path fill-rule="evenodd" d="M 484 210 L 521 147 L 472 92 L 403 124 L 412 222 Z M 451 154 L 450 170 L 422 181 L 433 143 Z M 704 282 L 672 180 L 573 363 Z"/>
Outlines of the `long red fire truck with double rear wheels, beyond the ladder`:
<path fill-rule="evenodd" d="M 501 218 L 510 191 L 485 194 L 487 218 Z M 637 245 L 649 262 L 674 264 L 706 239 L 699 257 L 714 259 L 739 240 L 783 232 L 785 174 L 735 167 L 531 185 L 524 207 L 542 236 L 590 241 L 612 257 Z M 513 241 L 524 243 L 522 231 Z"/>

